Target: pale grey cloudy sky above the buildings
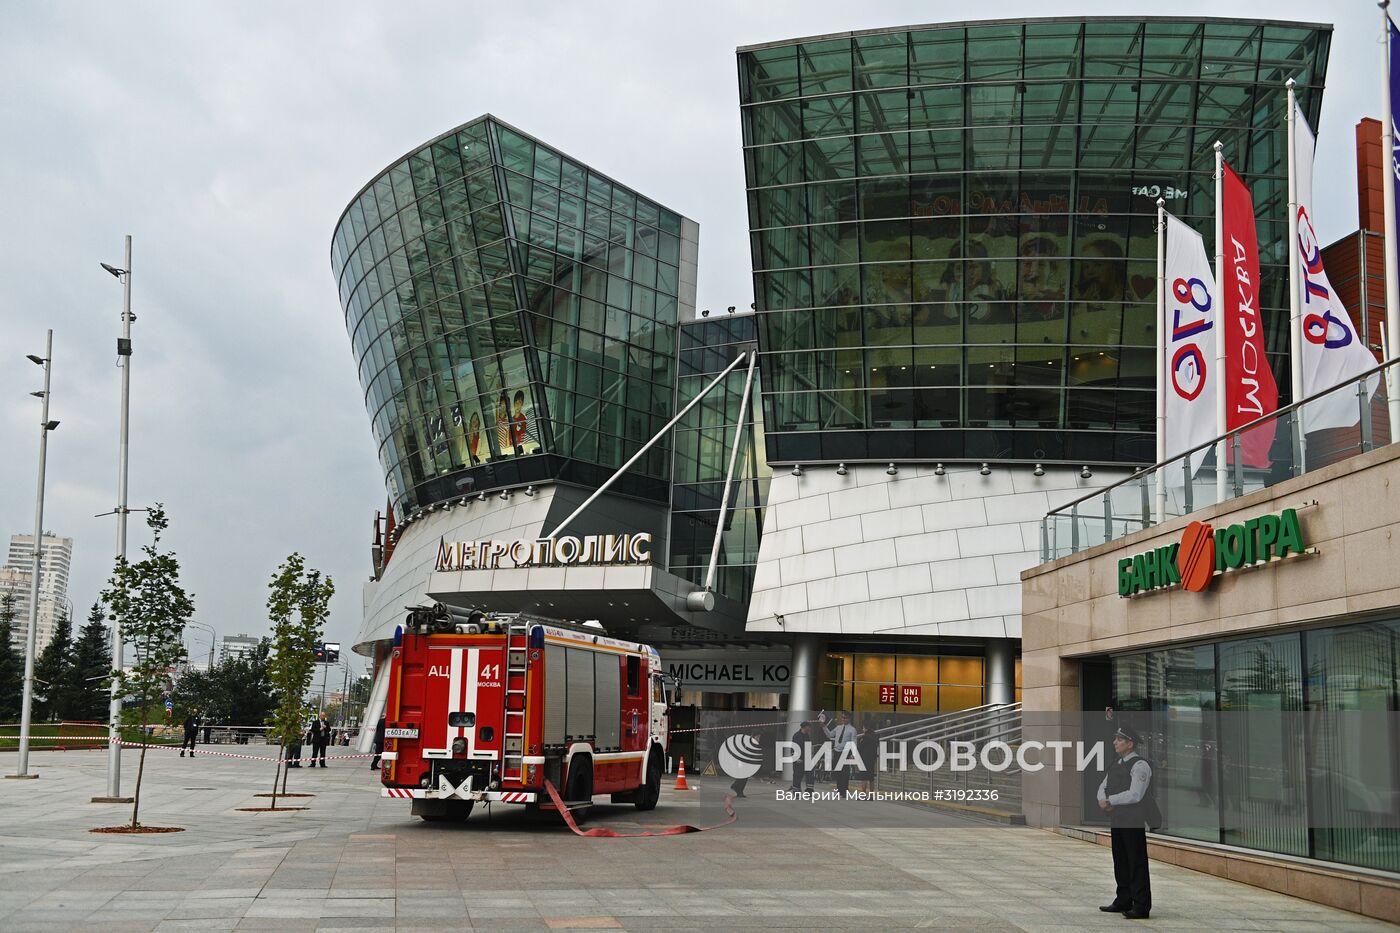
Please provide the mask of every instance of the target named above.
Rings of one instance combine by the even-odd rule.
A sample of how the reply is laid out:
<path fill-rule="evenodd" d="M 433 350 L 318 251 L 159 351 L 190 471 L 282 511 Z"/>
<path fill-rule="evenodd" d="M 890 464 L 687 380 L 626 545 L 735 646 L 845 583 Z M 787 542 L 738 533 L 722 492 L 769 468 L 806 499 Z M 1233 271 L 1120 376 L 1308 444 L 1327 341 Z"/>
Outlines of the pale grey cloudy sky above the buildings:
<path fill-rule="evenodd" d="M 507 8 L 510 7 L 510 8 Z M 1179 0 L 1211 15 L 1219 3 Z M 1001 17 L 1161 4 L 1004 1 Z M 349 643 L 384 504 L 332 226 L 375 172 L 490 111 L 696 219 L 700 305 L 752 300 L 734 50 L 966 17 L 962 3 L 11 3 L 0 31 L 0 534 L 34 527 L 55 331 L 46 528 L 85 615 L 111 572 L 120 263 L 134 238 L 132 506 L 164 502 L 197 618 L 266 630 L 300 551 Z M 1371 3 L 1235 3 L 1334 20 L 1317 157 L 1324 241 L 1355 228 L 1352 125 L 1379 109 Z M 1327 210 L 1327 200 L 1337 205 Z M 148 541 L 133 516 L 132 548 Z M 197 653 L 207 650 L 193 639 Z"/>

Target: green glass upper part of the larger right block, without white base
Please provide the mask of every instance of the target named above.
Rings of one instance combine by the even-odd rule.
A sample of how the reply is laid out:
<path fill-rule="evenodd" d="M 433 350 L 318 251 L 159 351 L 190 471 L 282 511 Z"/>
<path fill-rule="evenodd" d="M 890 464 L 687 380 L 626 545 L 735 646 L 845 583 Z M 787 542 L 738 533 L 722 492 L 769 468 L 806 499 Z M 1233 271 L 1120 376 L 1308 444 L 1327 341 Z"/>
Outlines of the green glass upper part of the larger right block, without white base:
<path fill-rule="evenodd" d="M 1093 18 L 741 49 L 769 459 L 1154 461 L 1156 199 L 1210 248 L 1215 140 L 1287 385 L 1284 81 L 1316 126 L 1330 35 Z"/>

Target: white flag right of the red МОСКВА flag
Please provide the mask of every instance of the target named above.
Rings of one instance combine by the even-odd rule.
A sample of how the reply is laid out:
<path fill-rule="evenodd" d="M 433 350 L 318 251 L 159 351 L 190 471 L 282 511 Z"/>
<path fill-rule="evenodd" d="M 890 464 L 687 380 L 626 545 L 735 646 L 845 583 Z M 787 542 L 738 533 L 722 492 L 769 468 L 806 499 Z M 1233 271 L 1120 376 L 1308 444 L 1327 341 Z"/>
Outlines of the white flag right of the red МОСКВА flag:
<path fill-rule="evenodd" d="M 1308 120 L 1298 113 L 1294 130 L 1294 164 L 1298 192 L 1298 242 L 1294 261 L 1301 277 L 1303 396 L 1352 380 L 1376 366 L 1365 338 L 1351 325 L 1347 305 L 1337 298 L 1322 268 L 1322 244 L 1312 223 L 1312 167 L 1316 140 Z M 1366 394 L 1376 391 L 1379 378 L 1366 381 Z M 1296 401 L 1296 399 L 1295 399 Z M 1348 427 L 1361 420 L 1355 392 L 1338 391 L 1303 406 L 1303 433 L 1324 427 Z"/>

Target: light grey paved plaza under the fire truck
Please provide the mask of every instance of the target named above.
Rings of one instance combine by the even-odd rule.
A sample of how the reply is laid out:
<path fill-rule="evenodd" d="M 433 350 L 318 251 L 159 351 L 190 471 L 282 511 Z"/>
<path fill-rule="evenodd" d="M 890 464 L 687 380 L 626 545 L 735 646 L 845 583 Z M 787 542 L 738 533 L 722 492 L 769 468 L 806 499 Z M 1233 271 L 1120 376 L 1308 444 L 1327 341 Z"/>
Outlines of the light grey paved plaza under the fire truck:
<path fill-rule="evenodd" d="M 0 755 L 6 773 L 14 762 Z M 519 808 L 426 824 L 407 801 L 381 799 L 360 758 L 294 770 L 290 789 L 315 793 L 290 801 L 305 811 L 239 813 L 267 803 L 253 794 L 267 790 L 270 762 L 151 751 L 143 822 L 185 832 L 94 835 L 130 813 L 88 801 L 102 792 L 104 762 L 99 751 L 42 752 L 31 759 L 38 780 L 0 780 L 0 927 L 1387 929 L 1156 863 L 1152 919 L 1130 922 L 1096 909 L 1112 899 L 1107 849 L 904 804 L 794 811 L 756 782 L 728 827 L 598 839 Z M 129 790 L 134 752 L 123 766 Z M 666 790 L 651 814 L 598 807 L 591 825 L 713 822 L 724 782 L 696 783 L 689 796 Z"/>

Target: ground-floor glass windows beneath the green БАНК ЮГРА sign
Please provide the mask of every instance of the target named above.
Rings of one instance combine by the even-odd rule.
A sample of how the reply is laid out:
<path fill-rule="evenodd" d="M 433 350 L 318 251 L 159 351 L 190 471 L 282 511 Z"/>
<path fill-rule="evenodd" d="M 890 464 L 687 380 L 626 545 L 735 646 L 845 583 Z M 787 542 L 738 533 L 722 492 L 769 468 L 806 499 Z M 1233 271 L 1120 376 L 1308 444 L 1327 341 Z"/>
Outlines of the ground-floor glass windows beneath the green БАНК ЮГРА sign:
<path fill-rule="evenodd" d="M 1141 714 L 1162 832 L 1400 871 L 1400 622 L 1114 657 Z"/>

